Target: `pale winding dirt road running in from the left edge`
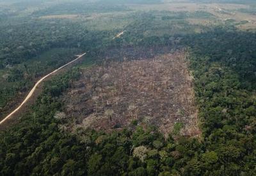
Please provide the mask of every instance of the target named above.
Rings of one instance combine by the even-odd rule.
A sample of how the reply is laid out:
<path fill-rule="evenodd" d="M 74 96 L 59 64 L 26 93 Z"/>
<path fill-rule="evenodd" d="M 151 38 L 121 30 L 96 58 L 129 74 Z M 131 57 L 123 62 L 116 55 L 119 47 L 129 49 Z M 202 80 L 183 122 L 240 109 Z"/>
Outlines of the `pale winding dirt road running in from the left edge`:
<path fill-rule="evenodd" d="M 86 52 L 84 52 L 84 54 L 86 54 Z M 58 70 L 60 70 L 61 68 L 66 67 L 67 65 L 70 65 L 70 63 L 73 63 L 76 60 L 79 60 L 81 57 L 84 56 L 84 54 L 78 55 L 78 57 L 75 60 L 72 60 L 70 62 L 68 62 L 67 64 L 61 66 L 60 68 L 57 68 L 56 70 L 54 70 L 53 72 L 47 74 L 46 76 L 42 77 L 39 81 L 36 82 L 35 86 L 33 86 L 33 88 L 31 89 L 31 91 L 28 93 L 27 97 L 23 100 L 23 102 L 20 104 L 20 106 L 18 108 L 16 108 L 14 111 L 12 111 L 12 113 L 10 113 L 8 116 L 6 116 L 3 120 L 1 120 L 0 125 L 4 123 L 4 121 L 6 121 L 8 118 L 10 118 L 14 113 L 16 113 L 17 111 L 19 111 L 20 108 L 22 108 L 22 106 L 30 99 L 30 97 L 33 95 L 33 93 L 36 90 L 36 87 L 42 82 L 44 81 L 45 78 L 51 76 L 52 74 L 54 74 L 55 72 L 58 72 Z"/>

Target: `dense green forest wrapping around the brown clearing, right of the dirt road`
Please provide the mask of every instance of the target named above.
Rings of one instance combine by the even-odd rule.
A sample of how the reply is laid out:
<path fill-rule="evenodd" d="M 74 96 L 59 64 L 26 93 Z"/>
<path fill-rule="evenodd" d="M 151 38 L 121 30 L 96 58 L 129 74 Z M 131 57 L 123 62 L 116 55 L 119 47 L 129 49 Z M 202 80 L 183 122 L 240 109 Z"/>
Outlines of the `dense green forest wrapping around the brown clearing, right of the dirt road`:
<path fill-rule="evenodd" d="M 254 175 L 255 33 L 228 30 L 179 36 L 195 79 L 201 138 L 165 139 L 154 126 L 111 134 L 61 131 L 58 124 L 67 119 L 56 115 L 58 96 L 79 77 L 74 68 L 45 83 L 31 113 L 1 132 L 1 174 Z M 166 44 L 170 36 L 154 37 L 156 47 Z"/>

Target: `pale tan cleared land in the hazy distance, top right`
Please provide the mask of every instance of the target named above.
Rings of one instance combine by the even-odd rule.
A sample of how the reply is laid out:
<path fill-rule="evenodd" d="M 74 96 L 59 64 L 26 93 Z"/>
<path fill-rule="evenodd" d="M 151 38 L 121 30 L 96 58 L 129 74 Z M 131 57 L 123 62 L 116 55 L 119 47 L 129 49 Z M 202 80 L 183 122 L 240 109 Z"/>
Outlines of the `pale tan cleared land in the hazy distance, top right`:
<path fill-rule="evenodd" d="M 233 20 L 233 24 L 239 29 L 256 29 L 256 15 L 245 13 L 246 10 L 252 10 L 252 7 L 246 4 L 232 3 L 169 3 L 165 1 L 162 4 L 132 4 L 129 5 L 132 10 L 143 11 L 161 11 L 166 12 L 207 12 L 214 15 L 214 18 L 206 19 L 204 14 L 198 17 L 186 17 L 189 24 L 212 26 L 225 24 L 228 20 Z M 244 12 L 241 12 L 243 10 Z"/>

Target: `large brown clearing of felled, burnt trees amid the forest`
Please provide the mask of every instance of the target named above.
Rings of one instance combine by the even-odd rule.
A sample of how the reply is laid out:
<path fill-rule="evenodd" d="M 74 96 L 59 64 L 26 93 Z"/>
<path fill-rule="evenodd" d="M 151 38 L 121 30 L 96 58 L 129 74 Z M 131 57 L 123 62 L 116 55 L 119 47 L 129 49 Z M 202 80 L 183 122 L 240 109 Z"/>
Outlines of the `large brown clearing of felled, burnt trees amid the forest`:
<path fill-rule="evenodd" d="M 167 136 L 180 124 L 179 135 L 200 134 L 184 51 L 86 68 L 62 99 L 70 131 L 154 125 Z"/>

